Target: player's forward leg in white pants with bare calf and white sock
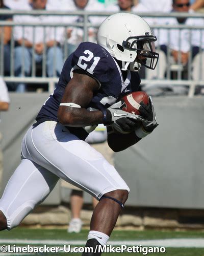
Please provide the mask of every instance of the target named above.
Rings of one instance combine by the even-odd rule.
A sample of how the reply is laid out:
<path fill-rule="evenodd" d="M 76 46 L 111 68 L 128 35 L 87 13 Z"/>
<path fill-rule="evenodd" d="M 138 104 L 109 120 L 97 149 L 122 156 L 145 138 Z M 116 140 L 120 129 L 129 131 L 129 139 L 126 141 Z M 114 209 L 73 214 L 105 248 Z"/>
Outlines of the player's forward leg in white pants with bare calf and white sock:
<path fill-rule="evenodd" d="M 100 199 L 91 220 L 89 238 L 92 240 L 99 232 L 103 238 L 99 243 L 106 244 L 129 193 L 116 169 L 88 143 L 53 121 L 30 130 L 25 144 L 35 162 Z"/>

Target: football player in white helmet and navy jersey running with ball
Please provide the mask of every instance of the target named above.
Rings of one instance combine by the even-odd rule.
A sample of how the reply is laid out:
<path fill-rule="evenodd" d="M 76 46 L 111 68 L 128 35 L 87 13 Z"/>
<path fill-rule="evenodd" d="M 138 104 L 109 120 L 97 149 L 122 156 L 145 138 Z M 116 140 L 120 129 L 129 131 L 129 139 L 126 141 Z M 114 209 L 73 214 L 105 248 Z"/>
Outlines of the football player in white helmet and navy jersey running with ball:
<path fill-rule="evenodd" d="M 141 116 L 120 109 L 120 98 L 139 88 L 140 66 L 156 67 L 156 40 L 143 18 L 116 13 L 100 25 L 97 44 L 82 42 L 66 59 L 54 94 L 23 138 L 21 163 L 0 202 L 2 230 L 19 225 L 62 178 L 99 200 L 86 246 L 106 245 L 130 189 L 84 140 L 104 123 L 109 146 L 118 152 L 157 127 L 151 98 L 148 106 L 140 102 Z"/>

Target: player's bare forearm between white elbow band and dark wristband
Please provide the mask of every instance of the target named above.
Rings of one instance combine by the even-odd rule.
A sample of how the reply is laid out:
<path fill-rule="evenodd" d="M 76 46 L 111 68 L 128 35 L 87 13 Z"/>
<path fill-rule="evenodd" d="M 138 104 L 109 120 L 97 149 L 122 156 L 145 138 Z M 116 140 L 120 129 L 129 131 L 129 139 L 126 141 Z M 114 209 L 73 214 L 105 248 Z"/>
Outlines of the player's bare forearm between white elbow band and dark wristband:
<path fill-rule="evenodd" d="M 83 127 L 103 123 L 104 114 L 101 111 L 88 111 L 85 108 L 71 108 L 66 111 L 59 109 L 58 120 L 61 124 L 73 127 Z"/>

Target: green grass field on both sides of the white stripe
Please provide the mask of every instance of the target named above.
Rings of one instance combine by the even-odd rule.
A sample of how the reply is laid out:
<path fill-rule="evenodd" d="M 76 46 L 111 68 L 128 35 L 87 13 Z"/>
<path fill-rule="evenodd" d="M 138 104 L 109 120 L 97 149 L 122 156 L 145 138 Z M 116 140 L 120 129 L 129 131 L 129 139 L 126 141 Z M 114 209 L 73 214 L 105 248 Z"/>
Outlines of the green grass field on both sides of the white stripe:
<path fill-rule="evenodd" d="M 85 241 L 87 238 L 88 230 L 82 230 L 79 234 L 68 234 L 65 229 L 29 229 L 29 228 L 16 228 L 11 231 L 2 231 L 0 232 L 0 248 L 3 244 L 16 244 L 15 239 L 19 240 L 49 240 L 53 245 L 49 244 L 48 246 L 54 246 L 60 241 L 66 241 L 66 244 L 69 244 L 69 241 Z M 111 241 L 134 241 L 134 240 L 150 240 L 150 239 L 169 239 L 169 238 L 204 238 L 204 232 L 202 231 L 158 231 L 158 230 L 145 230 L 145 231 L 134 231 L 134 230 L 116 230 L 112 233 L 110 238 Z M 9 243 L 2 242 L 1 240 L 9 239 Z M 21 244 L 22 245 L 22 244 Z M 76 244 L 78 245 L 78 244 Z M 137 244 L 136 244 L 137 245 Z M 25 246 L 22 245 L 22 246 Z M 36 244 L 33 244 L 36 246 Z M 42 246 L 42 245 L 41 245 Z M 71 245 L 71 246 L 74 246 Z M 78 245 L 79 246 L 79 245 Z M 35 255 L 47 255 L 50 253 L 36 253 Z M 65 256 L 73 255 L 74 253 L 52 253 L 53 255 Z M 75 253 L 81 255 L 81 253 Z M 119 255 L 121 253 L 103 253 L 103 256 L 108 255 Z M 122 253 L 124 256 L 130 254 L 139 254 L 142 253 Z M 165 253 L 148 253 L 147 255 L 173 255 L 173 256 L 204 256 L 204 248 L 166 248 Z M 4 255 L 4 253 L 0 253 Z M 17 254 L 5 254 L 5 255 L 17 255 Z M 20 255 L 20 254 L 18 254 Z M 29 254 L 22 254 L 29 255 Z"/>

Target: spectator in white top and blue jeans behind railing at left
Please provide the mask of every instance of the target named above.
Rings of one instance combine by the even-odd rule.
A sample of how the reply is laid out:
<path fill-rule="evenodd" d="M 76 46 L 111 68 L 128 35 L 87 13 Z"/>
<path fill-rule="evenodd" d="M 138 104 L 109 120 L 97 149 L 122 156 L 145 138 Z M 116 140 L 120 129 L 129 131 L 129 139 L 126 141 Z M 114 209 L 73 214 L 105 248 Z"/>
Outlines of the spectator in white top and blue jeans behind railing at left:
<path fill-rule="evenodd" d="M 46 0 L 32 0 L 31 9 L 43 10 L 45 8 Z M 52 22 L 52 17 L 44 15 L 16 15 L 14 16 L 14 21 L 16 23 L 34 22 L 43 24 Z M 23 28 L 16 26 L 14 29 L 14 38 L 17 41 L 18 46 L 15 48 L 15 75 L 19 77 L 23 76 L 22 69 L 24 69 L 25 76 L 29 76 L 31 72 L 32 58 L 34 57 L 36 62 L 41 62 L 43 51 L 45 51 L 48 77 L 55 76 L 55 73 L 59 76 L 63 66 L 63 54 L 60 47 L 60 38 L 56 37 L 55 29 L 53 27 L 46 27 L 45 30 L 40 26 L 36 26 L 35 28 L 24 27 L 23 33 Z M 17 92 L 24 92 L 25 90 L 26 86 L 24 83 L 17 84 Z"/>

